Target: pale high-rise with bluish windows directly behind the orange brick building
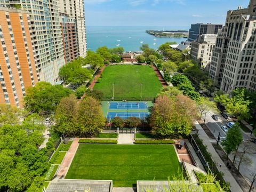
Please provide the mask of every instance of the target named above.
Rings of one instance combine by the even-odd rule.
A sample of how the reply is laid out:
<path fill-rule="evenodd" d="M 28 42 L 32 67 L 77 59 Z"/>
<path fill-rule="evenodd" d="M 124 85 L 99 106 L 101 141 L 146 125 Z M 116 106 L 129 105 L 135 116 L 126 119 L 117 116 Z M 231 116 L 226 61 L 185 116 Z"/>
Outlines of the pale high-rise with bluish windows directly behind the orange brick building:
<path fill-rule="evenodd" d="M 65 65 L 57 0 L 0 0 L 7 7 L 29 11 L 35 45 L 35 62 L 41 81 L 55 84 L 59 68 Z"/>

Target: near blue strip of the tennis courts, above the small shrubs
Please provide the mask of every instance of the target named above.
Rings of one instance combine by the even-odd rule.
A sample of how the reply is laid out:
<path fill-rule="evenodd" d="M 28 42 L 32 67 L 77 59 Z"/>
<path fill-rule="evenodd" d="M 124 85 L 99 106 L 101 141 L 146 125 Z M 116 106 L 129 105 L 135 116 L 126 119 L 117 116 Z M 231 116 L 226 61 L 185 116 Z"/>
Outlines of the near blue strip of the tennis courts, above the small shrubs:
<path fill-rule="evenodd" d="M 121 117 L 127 119 L 128 117 L 138 117 L 144 119 L 149 116 L 148 112 L 109 112 L 107 114 L 107 119 L 113 119 L 114 117 Z"/>

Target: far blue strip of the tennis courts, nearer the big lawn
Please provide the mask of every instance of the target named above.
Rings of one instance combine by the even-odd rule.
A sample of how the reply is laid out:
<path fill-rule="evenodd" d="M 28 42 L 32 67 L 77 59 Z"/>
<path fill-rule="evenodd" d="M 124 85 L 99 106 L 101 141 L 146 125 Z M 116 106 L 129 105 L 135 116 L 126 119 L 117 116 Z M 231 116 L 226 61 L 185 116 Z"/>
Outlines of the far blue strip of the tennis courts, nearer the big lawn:
<path fill-rule="evenodd" d="M 110 102 L 109 109 L 147 109 L 147 102 Z"/>

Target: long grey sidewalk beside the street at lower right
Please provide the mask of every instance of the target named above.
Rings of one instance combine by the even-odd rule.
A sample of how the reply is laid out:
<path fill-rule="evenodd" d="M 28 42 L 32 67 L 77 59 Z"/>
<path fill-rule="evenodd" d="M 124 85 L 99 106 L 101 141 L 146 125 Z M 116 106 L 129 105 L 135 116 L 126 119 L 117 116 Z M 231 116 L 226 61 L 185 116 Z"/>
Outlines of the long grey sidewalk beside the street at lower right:
<path fill-rule="evenodd" d="M 195 125 L 196 125 L 196 129 L 198 130 L 199 138 L 202 139 L 204 145 L 207 146 L 207 151 L 209 151 L 209 153 L 212 154 L 212 159 L 213 159 L 213 161 L 215 163 L 217 163 L 218 170 L 224 173 L 224 175 L 223 175 L 224 180 L 226 182 L 230 183 L 230 190 L 231 191 L 235 191 L 235 192 L 242 192 L 243 190 L 238 185 L 238 183 L 236 182 L 236 180 L 233 177 L 233 175 L 229 172 L 229 170 L 228 170 L 227 166 L 225 165 L 225 163 L 223 163 L 223 161 L 221 160 L 220 156 L 217 154 L 217 152 L 213 148 L 212 143 L 210 142 L 210 138 L 204 132 L 204 130 L 201 127 L 201 125 L 199 125 L 198 122 L 196 122 Z M 222 164 L 221 167 L 219 167 L 220 164 Z"/>

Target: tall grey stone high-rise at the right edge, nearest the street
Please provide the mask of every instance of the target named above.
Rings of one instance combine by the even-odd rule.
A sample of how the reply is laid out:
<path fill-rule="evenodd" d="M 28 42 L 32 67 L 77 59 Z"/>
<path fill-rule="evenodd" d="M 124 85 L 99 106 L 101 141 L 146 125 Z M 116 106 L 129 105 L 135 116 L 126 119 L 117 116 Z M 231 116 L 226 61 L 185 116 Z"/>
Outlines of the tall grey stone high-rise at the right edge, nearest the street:
<path fill-rule="evenodd" d="M 209 76 L 227 93 L 237 87 L 256 90 L 256 0 L 247 9 L 228 11 L 219 30 Z"/>

